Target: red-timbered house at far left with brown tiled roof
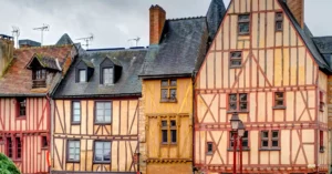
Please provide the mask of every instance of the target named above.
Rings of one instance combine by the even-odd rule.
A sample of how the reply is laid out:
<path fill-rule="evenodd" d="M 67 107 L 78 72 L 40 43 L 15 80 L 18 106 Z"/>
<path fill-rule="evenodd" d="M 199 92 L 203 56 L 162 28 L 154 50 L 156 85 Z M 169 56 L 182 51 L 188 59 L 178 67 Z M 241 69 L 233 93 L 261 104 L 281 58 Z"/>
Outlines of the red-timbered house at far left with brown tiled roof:
<path fill-rule="evenodd" d="M 49 173 L 50 93 L 75 58 L 73 44 L 34 47 L 24 40 L 13 48 L 0 37 L 0 152 L 22 174 Z"/>

